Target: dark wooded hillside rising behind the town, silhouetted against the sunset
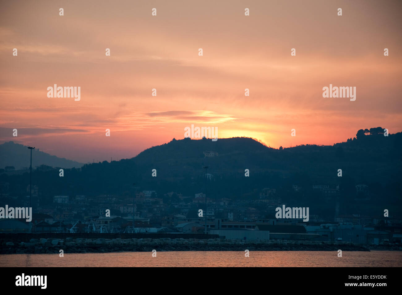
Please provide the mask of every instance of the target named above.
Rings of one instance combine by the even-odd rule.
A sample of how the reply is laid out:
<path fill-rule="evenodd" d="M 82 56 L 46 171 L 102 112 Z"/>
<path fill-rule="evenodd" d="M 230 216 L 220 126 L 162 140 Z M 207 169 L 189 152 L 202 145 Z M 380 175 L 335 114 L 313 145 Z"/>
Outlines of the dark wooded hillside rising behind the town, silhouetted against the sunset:
<path fill-rule="evenodd" d="M 312 185 L 326 184 L 339 185 L 343 204 L 351 207 L 348 202 L 356 196 L 355 185 L 365 184 L 370 188 L 371 200 L 397 202 L 401 195 L 402 134 L 357 137 L 333 146 L 301 145 L 286 149 L 269 148 L 252 138 L 219 138 L 216 142 L 173 139 L 132 159 L 85 164 L 81 171 L 65 169 L 64 177 L 59 177 L 55 169 L 39 169 L 32 178 L 43 196 L 132 196 L 133 183 L 140 190 L 155 190 L 158 196 L 166 192 L 194 196 L 205 191 L 203 167 L 208 166 L 207 173 L 213 175 L 208 180 L 210 198 L 258 198 L 263 188 L 277 188 L 283 200 L 294 198 L 310 206 L 326 202 L 312 191 Z M 218 154 L 205 157 L 205 151 Z M 25 153 L 28 158 L 24 161 L 29 163 L 29 153 Z M 156 169 L 156 177 L 152 177 L 152 169 Z M 249 169 L 250 177 L 245 177 L 245 169 Z M 342 169 L 342 177 L 337 176 L 338 169 Z M 2 174 L 0 182 L 10 184 L 10 194 L 25 194 L 29 173 Z M 303 190 L 296 194 L 292 185 Z M 370 204 L 376 206 L 375 202 Z"/>

